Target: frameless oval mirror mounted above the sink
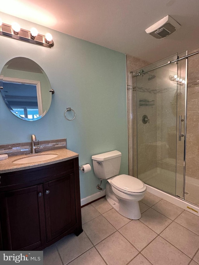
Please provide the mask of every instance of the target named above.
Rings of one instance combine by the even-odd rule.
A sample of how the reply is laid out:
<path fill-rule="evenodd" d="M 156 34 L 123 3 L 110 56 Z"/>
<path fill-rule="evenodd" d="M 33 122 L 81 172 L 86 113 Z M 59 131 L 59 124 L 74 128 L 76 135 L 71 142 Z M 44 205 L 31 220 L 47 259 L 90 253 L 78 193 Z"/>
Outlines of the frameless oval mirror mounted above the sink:
<path fill-rule="evenodd" d="M 28 58 L 16 57 L 3 66 L 0 87 L 7 107 L 22 120 L 39 120 L 49 110 L 52 92 L 48 76 Z"/>

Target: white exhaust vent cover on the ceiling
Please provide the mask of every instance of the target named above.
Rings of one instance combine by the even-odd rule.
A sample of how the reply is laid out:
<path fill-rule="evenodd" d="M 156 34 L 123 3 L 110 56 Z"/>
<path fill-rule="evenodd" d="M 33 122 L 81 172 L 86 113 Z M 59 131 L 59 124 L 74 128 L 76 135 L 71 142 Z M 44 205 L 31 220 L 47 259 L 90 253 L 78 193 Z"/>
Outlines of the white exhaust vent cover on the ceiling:
<path fill-rule="evenodd" d="M 179 28 L 180 24 L 168 15 L 150 26 L 145 31 L 156 39 L 164 39 L 166 36 L 171 35 Z"/>

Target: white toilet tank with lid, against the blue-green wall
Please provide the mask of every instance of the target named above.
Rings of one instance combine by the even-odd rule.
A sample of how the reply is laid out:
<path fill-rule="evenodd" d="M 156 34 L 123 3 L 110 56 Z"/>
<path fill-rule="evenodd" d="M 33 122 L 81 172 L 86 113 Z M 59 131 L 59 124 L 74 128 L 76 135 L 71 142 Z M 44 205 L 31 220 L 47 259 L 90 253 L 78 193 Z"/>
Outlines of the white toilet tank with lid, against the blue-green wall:
<path fill-rule="evenodd" d="M 111 151 L 92 156 L 95 176 L 100 179 L 109 179 L 119 174 L 122 153 Z"/>

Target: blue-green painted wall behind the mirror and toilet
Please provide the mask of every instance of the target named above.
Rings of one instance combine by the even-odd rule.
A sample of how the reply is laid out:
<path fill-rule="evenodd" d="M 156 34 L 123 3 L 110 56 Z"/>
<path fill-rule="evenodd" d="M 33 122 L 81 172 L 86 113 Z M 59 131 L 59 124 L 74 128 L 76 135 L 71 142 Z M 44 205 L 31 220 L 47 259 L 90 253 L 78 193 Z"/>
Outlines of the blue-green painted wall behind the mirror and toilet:
<path fill-rule="evenodd" d="M 119 150 L 120 173 L 127 174 L 125 54 L 1 12 L 0 17 L 24 29 L 35 26 L 40 34 L 50 32 L 55 43 L 49 49 L 0 36 L 0 71 L 12 58 L 28 57 L 44 69 L 55 90 L 49 111 L 38 121 L 15 117 L 0 96 L 0 144 L 29 142 L 32 134 L 39 140 L 67 138 L 67 148 L 79 153 L 79 164 L 92 167 L 86 174 L 80 172 L 81 198 L 98 191 L 92 155 Z M 75 110 L 74 121 L 64 118 L 67 107 Z"/>

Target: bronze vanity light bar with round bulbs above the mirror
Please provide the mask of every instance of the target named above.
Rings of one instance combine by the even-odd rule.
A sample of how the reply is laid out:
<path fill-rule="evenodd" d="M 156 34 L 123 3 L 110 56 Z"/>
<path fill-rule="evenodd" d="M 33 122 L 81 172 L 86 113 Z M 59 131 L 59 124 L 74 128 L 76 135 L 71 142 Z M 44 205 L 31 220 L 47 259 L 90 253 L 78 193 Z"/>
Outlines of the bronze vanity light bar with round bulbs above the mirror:
<path fill-rule="evenodd" d="M 24 30 L 20 28 L 20 25 L 16 22 L 12 25 L 2 23 L 0 19 L 0 35 L 12 39 L 18 39 L 25 42 L 37 44 L 43 47 L 51 48 L 54 46 L 53 37 L 50 33 L 45 36 L 38 34 L 38 30 L 31 28 L 31 30 Z"/>

